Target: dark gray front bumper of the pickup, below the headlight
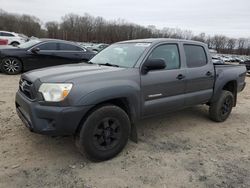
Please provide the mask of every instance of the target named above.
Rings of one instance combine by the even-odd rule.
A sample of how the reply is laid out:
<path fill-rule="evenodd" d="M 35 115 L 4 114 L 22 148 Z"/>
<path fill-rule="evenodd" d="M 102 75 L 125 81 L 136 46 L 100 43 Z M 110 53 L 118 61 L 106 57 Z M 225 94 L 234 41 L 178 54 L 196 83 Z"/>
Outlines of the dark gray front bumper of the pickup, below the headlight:
<path fill-rule="evenodd" d="M 44 106 L 31 101 L 20 91 L 16 93 L 16 111 L 32 132 L 45 135 L 73 135 L 92 106 Z"/>

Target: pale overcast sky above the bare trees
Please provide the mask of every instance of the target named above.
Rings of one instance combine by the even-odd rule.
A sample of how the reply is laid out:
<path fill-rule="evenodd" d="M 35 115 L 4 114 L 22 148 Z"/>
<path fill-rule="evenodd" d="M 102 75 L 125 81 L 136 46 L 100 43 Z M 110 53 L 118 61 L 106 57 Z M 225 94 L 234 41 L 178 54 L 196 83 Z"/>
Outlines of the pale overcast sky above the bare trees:
<path fill-rule="evenodd" d="M 0 8 L 34 15 L 43 22 L 60 21 L 68 13 L 89 13 L 159 29 L 250 37 L 250 0 L 0 0 Z"/>

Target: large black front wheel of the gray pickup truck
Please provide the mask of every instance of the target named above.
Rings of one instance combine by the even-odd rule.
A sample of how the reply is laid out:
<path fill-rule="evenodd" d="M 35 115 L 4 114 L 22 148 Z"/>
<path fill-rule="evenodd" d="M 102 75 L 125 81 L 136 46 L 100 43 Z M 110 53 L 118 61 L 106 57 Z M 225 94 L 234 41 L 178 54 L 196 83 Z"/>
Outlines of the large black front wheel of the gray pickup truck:
<path fill-rule="evenodd" d="M 114 105 L 102 106 L 93 111 L 82 125 L 76 146 L 90 160 L 104 161 L 122 151 L 130 135 L 127 113 Z"/>

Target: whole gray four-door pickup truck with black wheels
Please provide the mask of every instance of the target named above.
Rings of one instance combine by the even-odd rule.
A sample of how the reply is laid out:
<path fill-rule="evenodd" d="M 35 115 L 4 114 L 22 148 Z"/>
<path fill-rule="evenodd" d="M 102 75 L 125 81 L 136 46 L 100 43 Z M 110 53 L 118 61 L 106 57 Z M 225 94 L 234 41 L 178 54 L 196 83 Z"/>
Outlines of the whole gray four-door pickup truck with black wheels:
<path fill-rule="evenodd" d="M 92 160 L 116 156 L 136 122 L 206 104 L 225 121 L 245 87 L 246 67 L 213 64 L 206 44 L 142 39 L 115 43 L 91 61 L 25 73 L 16 109 L 33 132 L 74 135 Z"/>

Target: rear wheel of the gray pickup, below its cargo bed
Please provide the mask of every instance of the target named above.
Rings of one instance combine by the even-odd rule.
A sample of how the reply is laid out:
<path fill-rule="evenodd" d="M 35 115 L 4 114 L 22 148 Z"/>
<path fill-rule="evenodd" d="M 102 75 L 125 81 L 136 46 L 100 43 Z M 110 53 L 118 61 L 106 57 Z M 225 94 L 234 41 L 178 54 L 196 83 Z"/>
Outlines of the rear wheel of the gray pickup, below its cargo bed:
<path fill-rule="evenodd" d="M 211 104 L 209 108 L 209 116 L 213 121 L 225 121 L 233 108 L 234 96 L 230 91 L 223 90 L 220 98 Z"/>

